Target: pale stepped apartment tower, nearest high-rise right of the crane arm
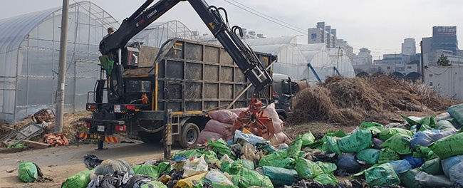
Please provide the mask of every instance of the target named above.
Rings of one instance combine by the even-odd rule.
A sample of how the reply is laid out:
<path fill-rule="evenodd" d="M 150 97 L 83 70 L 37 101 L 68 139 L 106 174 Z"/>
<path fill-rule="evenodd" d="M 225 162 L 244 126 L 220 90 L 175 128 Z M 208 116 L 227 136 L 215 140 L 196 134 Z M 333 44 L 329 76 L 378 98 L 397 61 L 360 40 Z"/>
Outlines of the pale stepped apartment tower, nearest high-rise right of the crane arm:
<path fill-rule="evenodd" d="M 308 28 L 307 43 L 326 43 L 326 48 L 335 48 L 336 29 L 331 26 L 326 26 L 325 22 L 318 22 L 316 28 Z"/>

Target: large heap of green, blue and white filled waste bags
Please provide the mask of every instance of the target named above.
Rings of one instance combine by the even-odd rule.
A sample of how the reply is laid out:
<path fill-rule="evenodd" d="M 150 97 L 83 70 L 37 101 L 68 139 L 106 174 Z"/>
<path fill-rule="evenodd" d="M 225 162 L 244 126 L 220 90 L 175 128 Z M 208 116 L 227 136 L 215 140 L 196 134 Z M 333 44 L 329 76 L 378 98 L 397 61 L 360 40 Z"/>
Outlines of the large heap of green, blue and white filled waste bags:
<path fill-rule="evenodd" d="M 170 160 L 132 166 L 88 155 L 89 169 L 62 187 L 463 187 L 463 104 L 402 118 L 318 140 L 308 131 L 289 145 L 236 130 L 231 140 L 209 138 Z"/>

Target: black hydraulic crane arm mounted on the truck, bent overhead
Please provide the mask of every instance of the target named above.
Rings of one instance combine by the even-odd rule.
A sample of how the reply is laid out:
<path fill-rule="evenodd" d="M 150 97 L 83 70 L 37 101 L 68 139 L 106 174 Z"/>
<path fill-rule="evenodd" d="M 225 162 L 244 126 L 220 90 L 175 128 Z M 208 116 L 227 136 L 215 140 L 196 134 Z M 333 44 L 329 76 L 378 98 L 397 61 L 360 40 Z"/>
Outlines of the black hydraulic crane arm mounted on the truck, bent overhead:
<path fill-rule="evenodd" d="M 207 28 L 222 43 L 222 46 L 224 46 L 240 70 L 246 75 L 246 78 L 254 85 L 254 94 L 259 93 L 259 91 L 273 82 L 254 51 L 249 46 L 244 45 L 239 36 L 236 35 L 236 32 L 238 32 L 242 36 L 241 28 L 238 26 L 229 27 L 227 11 L 225 9 L 209 6 L 204 0 L 160 0 L 153 6 L 150 6 L 153 1 L 145 1 L 137 11 L 127 19 L 124 19 L 117 31 L 100 42 L 100 52 L 108 56 L 109 61 L 115 62 L 115 71 L 108 74 L 108 80 L 114 80 L 110 82 L 109 86 L 111 91 L 109 94 L 110 98 L 118 100 L 123 96 L 123 87 L 120 84 L 123 84 L 123 68 L 126 68 L 125 65 L 128 65 L 128 63 L 125 62 L 127 60 L 120 57 L 119 50 L 125 48 L 133 36 L 140 33 L 140 31 L 149 26 L 150 23 L 156 21 L 180 1 L 188 1 L 191 4 L 194 11 L 197 12 L 202 21 L 207 25 Z M 150 7 L 148 8 L 148 6 Z M 219 11 L 224 12 L 225 21 Z"/>

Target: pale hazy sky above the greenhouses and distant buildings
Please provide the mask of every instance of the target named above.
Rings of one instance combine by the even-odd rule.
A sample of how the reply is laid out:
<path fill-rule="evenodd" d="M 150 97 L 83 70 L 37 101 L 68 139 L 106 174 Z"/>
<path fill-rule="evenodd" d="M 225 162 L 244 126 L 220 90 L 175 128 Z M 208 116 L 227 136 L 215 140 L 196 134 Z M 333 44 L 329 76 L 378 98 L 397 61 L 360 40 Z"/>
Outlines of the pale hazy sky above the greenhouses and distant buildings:
<path fill-rule="evenodd" d="M 91 0 L 122 21 L 145 0 Z M 157 0 L 155 0 L 157 1 Z M 75 1 L 71 0 L 71 4 Z M 3 0 L 0 19 L 62 6 L 59 0 Z M 463 3 L 461 0 L 207 0 L 209 5 L 227 9 L 230 25 L 263 33 L 266 37 L 296 36 L 298 43 L 307 43 L 307 28 L 318 21 L 336 28 L 338 38 L 354 47 L 354 53 L 365 47 L 373 59 L 383 53 L 400 53 L 405 38 L 415 38 L 417 51 L 422 37 L 432 36 L 432 26 L 457 26 L 462 41 Z M 266 14 L 267 19 L 278 19 L 291 24 L 286 28 L 238 8 L 243 4 Z M 256 13 L 259 14 L 259 13 Z M 192 31 L 209 32 L 187 2 L 180 2 L 159 21 L 179 20 Z M 273 20 L 273 19 L 272 19 Z M 293 29 L 297 31 L 294 31 Z"/>

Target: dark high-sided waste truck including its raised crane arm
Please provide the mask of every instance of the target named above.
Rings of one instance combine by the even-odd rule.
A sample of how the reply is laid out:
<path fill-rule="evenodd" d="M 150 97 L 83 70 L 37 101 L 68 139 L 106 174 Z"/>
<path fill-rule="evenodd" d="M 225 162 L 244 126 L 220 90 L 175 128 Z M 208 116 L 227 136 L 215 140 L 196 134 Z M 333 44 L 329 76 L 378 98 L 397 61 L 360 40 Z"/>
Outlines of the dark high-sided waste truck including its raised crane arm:
<path fill-rule="evenodd" d="M 208 111 L 247 107 L 249 98 L 271 103 L 267 66 L 276 57 L 254 53 L 241 41 L 241 28 L 229 26 L 227 11 L 202 0 L 188 2 L 223 47 L 174 38 L 162 45 L 151 67 L 138 68 L 140 43 L 128 42 L 180 0 L 152 2 L 100 42 L 100 79 L 85 107 L 93 113 L 81 119 L 88 131 L 78 132 L 98 140 L 97 150 L 104 149 L 103 142 L 118 142 L 115 132 L 127 132 L 144 142 L 163 140 L 168 157 L 173 142 L 194 145 Z"/>

